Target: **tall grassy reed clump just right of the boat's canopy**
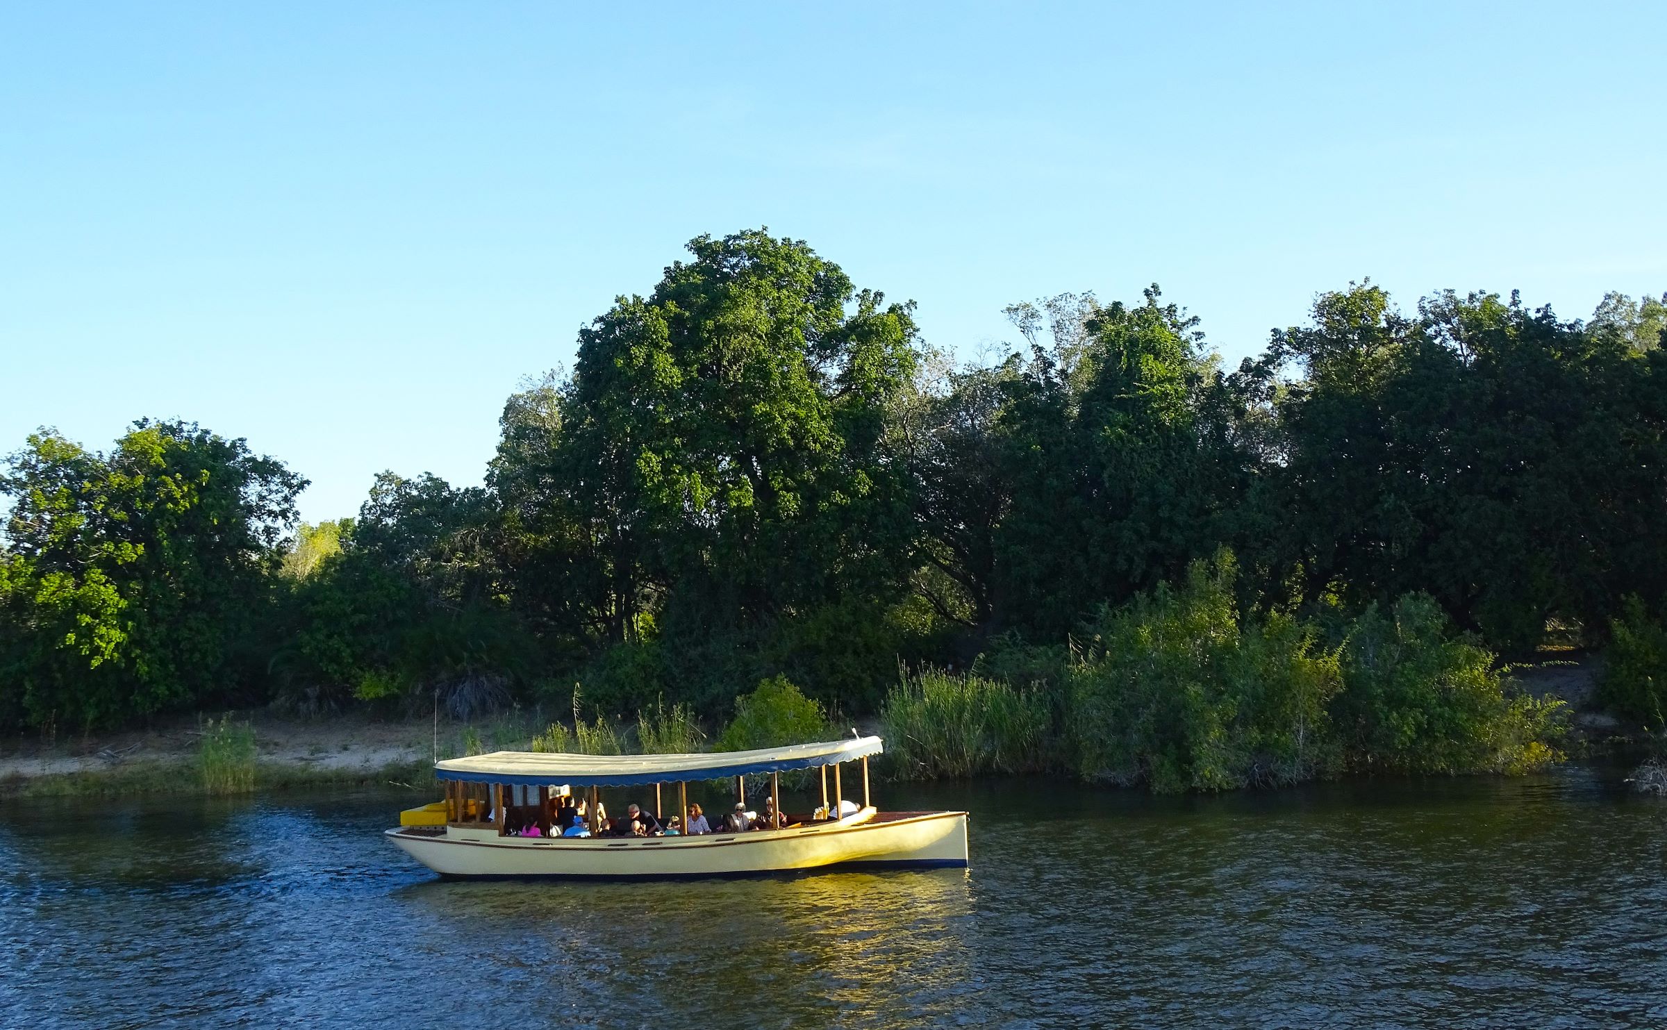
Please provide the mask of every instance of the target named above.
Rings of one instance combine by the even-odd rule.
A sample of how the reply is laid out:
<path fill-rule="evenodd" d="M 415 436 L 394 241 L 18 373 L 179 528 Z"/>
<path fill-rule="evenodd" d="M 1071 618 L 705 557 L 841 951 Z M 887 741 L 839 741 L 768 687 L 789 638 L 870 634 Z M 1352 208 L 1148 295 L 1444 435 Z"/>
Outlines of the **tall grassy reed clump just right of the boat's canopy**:
<path fill-rule="evenodd" d="M 900 778 L 1037 772 L 1045 760 L 1047 700 L 977 675 L 905 673 L 880 710 Z"/>

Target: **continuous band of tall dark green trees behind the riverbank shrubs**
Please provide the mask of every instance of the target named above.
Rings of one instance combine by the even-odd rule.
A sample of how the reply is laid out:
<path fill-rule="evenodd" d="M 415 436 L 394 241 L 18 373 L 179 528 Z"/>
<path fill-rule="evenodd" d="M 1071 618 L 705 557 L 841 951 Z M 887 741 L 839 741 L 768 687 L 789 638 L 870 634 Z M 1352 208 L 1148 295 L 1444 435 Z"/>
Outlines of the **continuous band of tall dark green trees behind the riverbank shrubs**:
<path fill-rule="evenodd" d="M 1227 552 L 1210 597 L 1304 662 L 1327 620 L 1602 643 L 1667 610 L 1664 305 L 1349 283 L 1227 368 L 1154 285 L 1010 305 L 1017 340 L 957 362 L 803 242 L 698 237 L 507 398 L 480 487 L 387 472 L 297 527 L 305 480 L 242 440 L 32 435 L 0 473 L 0 723 L 575 683 L 612 715 L 785 682 L 860 713 L 899 663 L 1132 653 Z"/>

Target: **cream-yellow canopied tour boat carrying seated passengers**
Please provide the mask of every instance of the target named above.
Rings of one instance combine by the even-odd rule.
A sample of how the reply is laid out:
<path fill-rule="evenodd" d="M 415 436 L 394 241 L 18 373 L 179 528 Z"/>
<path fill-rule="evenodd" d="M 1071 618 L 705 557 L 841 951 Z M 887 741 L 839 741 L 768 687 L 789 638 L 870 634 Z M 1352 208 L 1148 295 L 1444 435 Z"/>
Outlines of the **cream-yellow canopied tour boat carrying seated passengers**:
<path fill-rule="evenodd" d="M 695 755 L 568 755 L 493 752 L 435 763 L 445 798 L 402 813 L 387 837 L 447 878 L 683 878 L 803 873 L 845 868 L 965 867 L 965 812 L 879 812 L 870 803 L 869 757 L 879 737 L 854 737 L 752 752 Z M 860 767 L 860 798 L 845 798 L 842 767 Z M 822 807 L 787 813 L 780 773 L 818 770 Z M 832 777 L 828 772 L 832 770 Z M 598 790 L 653 787 L 655 815 L 667 787 L 688 812 L 688 783 L 768 773 L 772 808 L 785 827 L 700 835 L 608 837 Z M 832 780 L 832 792 L 830 792 Z M 552 833 L 562 797 L 582 798 L 588 837 Z M 537 837 L 517 827 L 540 827 Z"/>

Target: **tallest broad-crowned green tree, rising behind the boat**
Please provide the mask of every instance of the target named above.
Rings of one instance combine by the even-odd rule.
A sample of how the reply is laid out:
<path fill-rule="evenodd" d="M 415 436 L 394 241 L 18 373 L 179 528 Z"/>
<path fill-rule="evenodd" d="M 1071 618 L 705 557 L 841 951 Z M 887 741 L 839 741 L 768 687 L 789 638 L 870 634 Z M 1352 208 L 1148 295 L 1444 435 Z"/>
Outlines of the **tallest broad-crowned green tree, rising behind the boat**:
<path fill-rule="evenodd" d="M 512 400 L 490 480 L 513 603 L 600 648 L 587 695 L 625 710 L 670 680 L 727 703 L 793 625 L 854 600 L 880 618 L 910 572 L 890 417 L 910 307 L 763 230 L 688 250 L 580 330 L 570 380 Z"/>

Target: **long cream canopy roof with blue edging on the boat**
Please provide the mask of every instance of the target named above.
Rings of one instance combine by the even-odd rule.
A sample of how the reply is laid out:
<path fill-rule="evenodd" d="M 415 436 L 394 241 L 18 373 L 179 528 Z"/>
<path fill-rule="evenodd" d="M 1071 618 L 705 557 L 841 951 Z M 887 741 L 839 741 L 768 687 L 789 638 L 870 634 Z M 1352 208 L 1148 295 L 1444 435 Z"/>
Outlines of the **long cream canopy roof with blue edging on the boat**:
<path fill-rule="evenodd" d="M 722 780 L 745 773 L 815 768 L 867 758 L 885 750 L 879 737 L 797 743 L 755 752 L 698 755 L 567 755 L 543 752 L 492 752 L 433 763 L 440 780 L 475 783 L 578 783 L 583 787 L 637 787 L 678 780 Z"/>

